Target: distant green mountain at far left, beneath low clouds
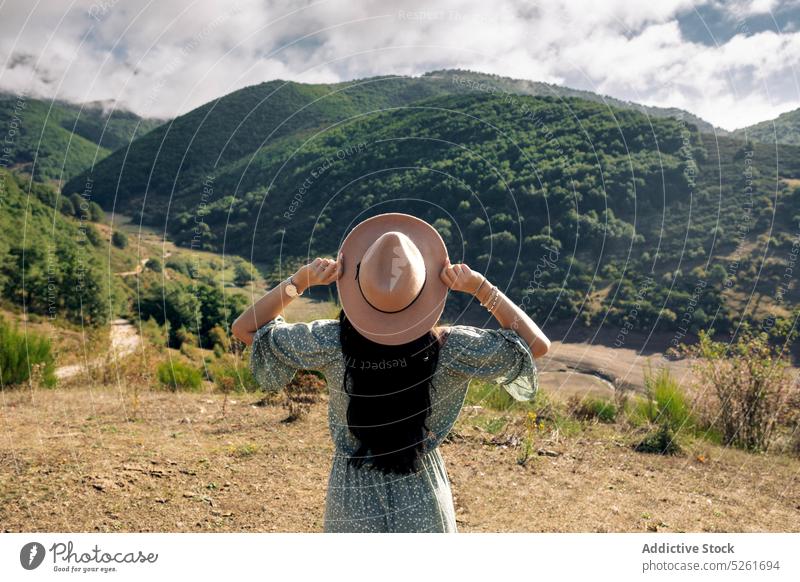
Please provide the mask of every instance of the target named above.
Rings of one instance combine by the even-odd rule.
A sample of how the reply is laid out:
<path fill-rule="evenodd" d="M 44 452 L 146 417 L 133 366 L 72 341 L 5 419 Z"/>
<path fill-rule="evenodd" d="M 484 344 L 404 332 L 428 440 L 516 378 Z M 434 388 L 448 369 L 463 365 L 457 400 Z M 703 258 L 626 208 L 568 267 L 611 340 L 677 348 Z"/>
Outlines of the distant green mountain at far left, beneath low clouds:
<path fill-rule="evenodd" d="M 3 94 L 0 130 L 9 148 L 3 166 L 37 181 L 66 181 L 161 123 L 100 102 L 80 106 Z"/>

